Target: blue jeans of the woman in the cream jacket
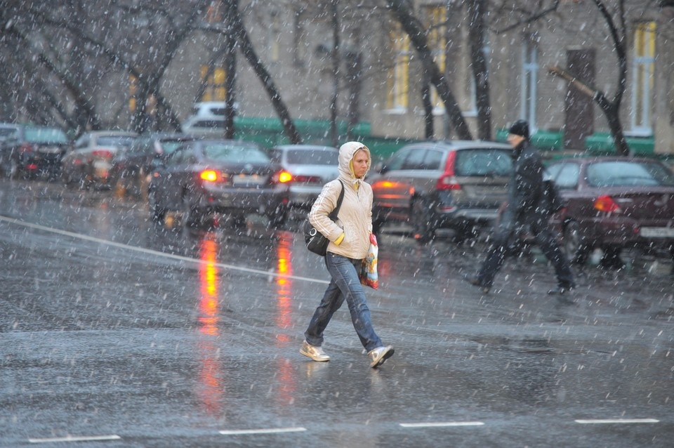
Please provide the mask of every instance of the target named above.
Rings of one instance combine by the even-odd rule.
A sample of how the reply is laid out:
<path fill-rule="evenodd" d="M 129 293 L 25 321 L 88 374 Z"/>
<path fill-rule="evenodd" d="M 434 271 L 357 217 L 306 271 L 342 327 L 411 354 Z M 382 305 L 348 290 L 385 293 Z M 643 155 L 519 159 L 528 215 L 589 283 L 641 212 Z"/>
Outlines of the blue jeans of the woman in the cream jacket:
<path fill-rule="evenodd" d="M 365 291 L 358 278 L 358 270 L 362 260 L 354 260 L 345 256 L 328 252 L 325 265 L 332 279 L 325 290 L 320 305 L 316 308 L 309 328 L 304 336 L 310 345 L 320 347 L 323 344 L 323 331 L 328 326 L 332 315 L 341 307 L 346 299 L 351 313 L 351 322 L 356 329 L 365 350 L 370 351 L 383 347 L 381 339 L 374 332 L 370 319 L 370 310 L 365 301 Z"/>

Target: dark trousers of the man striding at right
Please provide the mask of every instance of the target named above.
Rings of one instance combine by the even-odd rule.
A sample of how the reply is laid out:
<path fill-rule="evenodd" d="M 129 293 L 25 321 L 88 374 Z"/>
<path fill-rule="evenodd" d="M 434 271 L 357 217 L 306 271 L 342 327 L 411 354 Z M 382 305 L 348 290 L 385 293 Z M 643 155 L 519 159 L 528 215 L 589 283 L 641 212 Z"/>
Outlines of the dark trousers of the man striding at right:
<path fill-rule="evenodd" d="M 492 242 L 489 251 L 487 251 L 487 258 L 482 263 L 480 272 L 477 273 L 482 286 L 489 286 L 494 282 L 494 277 L 505 258 L 510 254 L 509 247 L 513 242 L 513 238 L 517 237 L 517 228 L 522 225 L 517 223 L 503 223 L 498 231 L 494 242 Z M 574 274 L 571 271 L 571 265 L 567 257 L 564 256 L 555 235 L 548 229 L 546 224 L 541 224 L 541 220 L 534 220 L 529 224 L 529 230 L 536 237 L 536 244 L 541 248 L 543 254 L 548 258 L 550 263 L 553 263 L 555 268 L 555 275 L 557 275 L 557 284 L 563 288 L 570 288 L 575 286 Z"/>

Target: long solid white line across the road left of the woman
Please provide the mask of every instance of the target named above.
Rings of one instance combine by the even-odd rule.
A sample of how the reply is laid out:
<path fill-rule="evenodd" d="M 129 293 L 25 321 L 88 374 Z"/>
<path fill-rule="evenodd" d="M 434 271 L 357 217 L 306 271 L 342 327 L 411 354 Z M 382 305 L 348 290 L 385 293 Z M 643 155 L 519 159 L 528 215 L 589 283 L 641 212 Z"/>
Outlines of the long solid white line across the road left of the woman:
<path fill-rule="evenodd" d="M 228 270 L 237 270 L 237 271 L 240 271 L 240 272 L 249 272 L 250 274 L 258 274 L 258 275 L 263 275 L 265 277 L 281 277 L 281 278 L 285 278 L 285 279 L 302 280 L 304 282 L 329 284 L 329 282 L 326 281 L 326 280 L 310 279 L 308 277 L 298 277 L 296 275 L 279 274 L 277 272 L 271 272 L 271 271 L 267 271 L 267 270 L 259 270 L 259 269 L 253 269 L 253 268 L 244 268 L 242 266 L 228 265 L 226 263 L 211 263 L 211 262 L 199 260 L 197 258 L 189 258 L 189 257 L 185 257 L 185 256 L 174 255 L 173 253 L 164 253 L 164 252 L 161 252 L 161 251 L 153 251 L 152 249 L 145 249 L 143 247 L 129 246 L 128 244 L 121 244 L 121 243 L 116 243 L 116 242 L 113 242 L 113 241 L 110 241 L 110 240 L 107 240 L 107 239 L 90 237 L 88 235 L 81 235 L 79 233 L 68 232 L 67 230 L 59 230 L 59 229 L 54 229 L 54 228 L 51 228 L 51 227 L 46 227 L 44 225 L 26 223 L 25 221 L 18 220 L 18 219 L 15 219 L 15 218 L 8 218 L 7 216 L 0 216 L 0 221 L 5 221 L 6 223 L 11 223 L 11 224 L 15 224 L 15 225 L 22 225 L 23 227 L 27 227 L 27 228 L 43 230 L 44 232 L 51 232 L 51 233 L 55 233 L 55 234 L 58 234 L 58 235 L 64 235 L 66 237 L 84 239 L 85 241 L 91 241 L 91 242 L 95 242 L 95 243 L 98 243 L 98 244 L 105 244 L 107 246 L 118 247 L 120 249 L 127 249 L 129 251 L 136 251 L 136 252 L 140 252 L 140 253 L 148 253 L 150 255 L 161 256 L 161 257 L 164 257 L 164 258 L 171 258 L 173 260 L 187 261 L 187 262 L 190 262 L 190 263 L 197 263 L 197 264 L 214 265 L 214 266 L 217 266 L 218 268 L 223 268 L 223 269 L 228 269 Z"/>

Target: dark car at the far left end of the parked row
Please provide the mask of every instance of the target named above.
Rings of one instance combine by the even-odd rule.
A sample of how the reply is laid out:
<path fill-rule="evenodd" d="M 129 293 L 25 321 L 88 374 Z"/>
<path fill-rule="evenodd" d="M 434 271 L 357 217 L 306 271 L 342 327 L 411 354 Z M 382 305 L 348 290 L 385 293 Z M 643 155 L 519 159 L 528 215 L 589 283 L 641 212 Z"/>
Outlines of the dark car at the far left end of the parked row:
<path fill-rule="evenodd" d="M 2 171 L 10 178 L 55 178 L 69 149 L 70 140 L 60 128 L 16 125 L 2 143 Z"/>

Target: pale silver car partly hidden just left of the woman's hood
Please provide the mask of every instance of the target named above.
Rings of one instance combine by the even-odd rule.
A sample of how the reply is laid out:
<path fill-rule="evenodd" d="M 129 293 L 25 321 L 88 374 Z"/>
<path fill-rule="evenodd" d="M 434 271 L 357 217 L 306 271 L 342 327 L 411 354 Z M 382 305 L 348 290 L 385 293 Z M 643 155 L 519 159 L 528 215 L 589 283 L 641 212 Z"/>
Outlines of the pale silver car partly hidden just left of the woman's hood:
<path fill-rule="evenodd" d="M 279 145 L 269 152 L 272 162 L 290 174 L 289 206 L 308 210 L 323 185 L 339 176 L 336 147 L 321 145 Z"/>

